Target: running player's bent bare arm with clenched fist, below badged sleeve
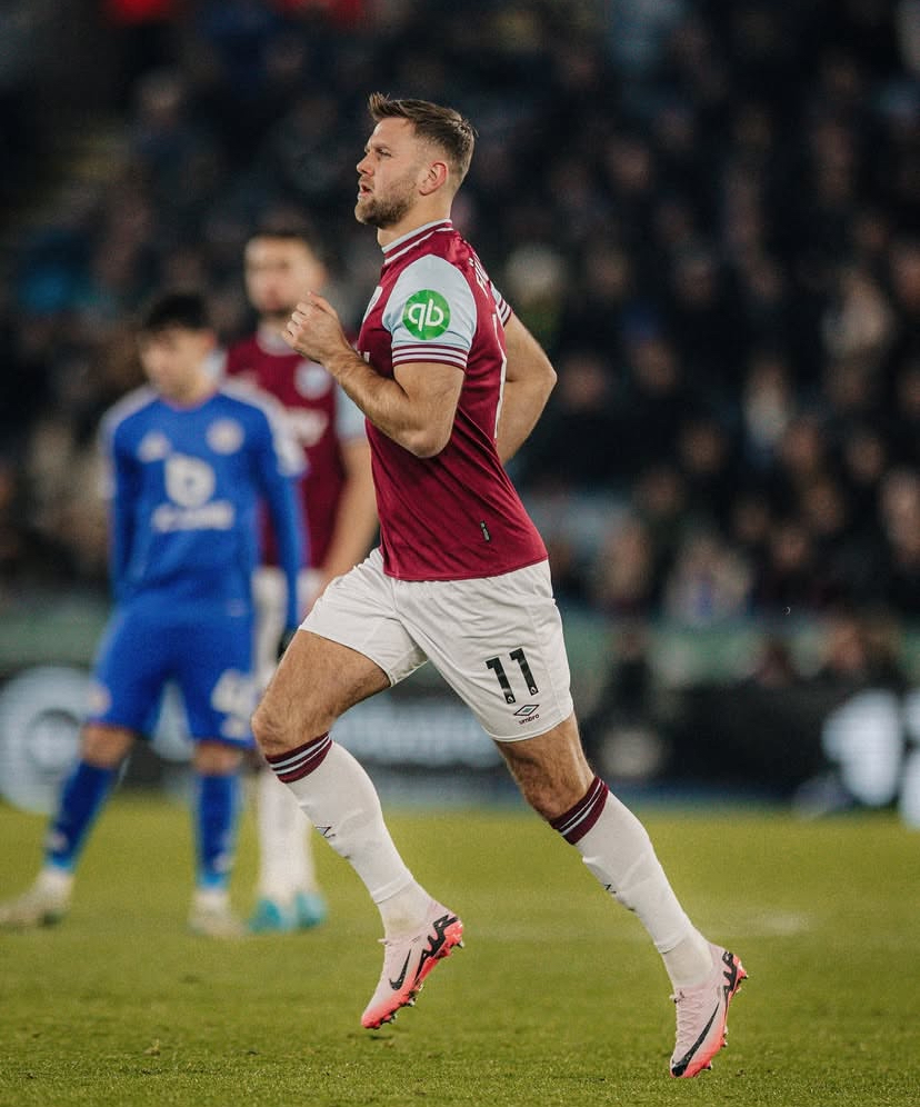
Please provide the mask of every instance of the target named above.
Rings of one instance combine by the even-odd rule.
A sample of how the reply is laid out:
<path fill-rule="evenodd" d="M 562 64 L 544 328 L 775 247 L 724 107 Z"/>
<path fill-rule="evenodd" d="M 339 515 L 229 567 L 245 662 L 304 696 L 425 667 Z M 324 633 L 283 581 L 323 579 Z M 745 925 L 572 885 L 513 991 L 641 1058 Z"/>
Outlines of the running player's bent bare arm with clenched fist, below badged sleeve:
<path fill-rule="evenodd" d="M 392 379 L 381 377 L 349 346 L 334 309 L 314 292 L 298 303 L 284 340 L 324 366 L 368 419 L 410 453 L 430 458 L 447 446 L 462 370 L 423 361 L 400 366 Z"/>

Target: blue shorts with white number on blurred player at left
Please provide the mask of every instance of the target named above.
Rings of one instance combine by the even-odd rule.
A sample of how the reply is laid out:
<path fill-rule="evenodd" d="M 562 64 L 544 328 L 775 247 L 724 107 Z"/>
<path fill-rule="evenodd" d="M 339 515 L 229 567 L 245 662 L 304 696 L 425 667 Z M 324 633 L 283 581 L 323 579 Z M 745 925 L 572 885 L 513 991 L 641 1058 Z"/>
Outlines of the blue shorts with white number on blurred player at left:
<path fill-rule="evenodd" d="M 131 600 L 99 645 L 87 719 L 150 735 L 163 688 L 182 694 L 189 736 L 251 746 L 252 611 Z"/>

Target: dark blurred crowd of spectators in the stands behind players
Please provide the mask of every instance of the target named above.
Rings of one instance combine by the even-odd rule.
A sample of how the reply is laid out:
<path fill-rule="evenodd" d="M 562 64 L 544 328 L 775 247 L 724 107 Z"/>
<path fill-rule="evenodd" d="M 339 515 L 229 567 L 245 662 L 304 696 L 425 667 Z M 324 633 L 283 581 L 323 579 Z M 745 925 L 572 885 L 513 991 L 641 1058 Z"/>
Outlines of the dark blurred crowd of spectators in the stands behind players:
<path fill-rule="evenodd" d="M 6 589 L 104 581 L 96 429 L 139 382 L 150 292 L 206 288 L 231 340 L 246 236 L 306 216 L 358 322 L 380 89 L 479 130 L 456 218 L 559 371 L 514 476 L 563 601 L 920 620 L 917 0 L 19 0 L 2 20 Z"/>

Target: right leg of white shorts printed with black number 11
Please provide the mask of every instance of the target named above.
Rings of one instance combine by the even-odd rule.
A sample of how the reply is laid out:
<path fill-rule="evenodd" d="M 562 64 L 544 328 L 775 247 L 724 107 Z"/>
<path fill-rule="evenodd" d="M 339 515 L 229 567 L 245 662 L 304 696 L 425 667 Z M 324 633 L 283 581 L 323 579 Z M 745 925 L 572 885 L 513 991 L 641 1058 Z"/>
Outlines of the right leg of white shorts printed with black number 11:
<path fill-rule="evenodd" d="M 546 562 L 479 580 L 406 582 L 399 592 L 412 635 L 492 738 L 546 734 L 572 714 Z"/>

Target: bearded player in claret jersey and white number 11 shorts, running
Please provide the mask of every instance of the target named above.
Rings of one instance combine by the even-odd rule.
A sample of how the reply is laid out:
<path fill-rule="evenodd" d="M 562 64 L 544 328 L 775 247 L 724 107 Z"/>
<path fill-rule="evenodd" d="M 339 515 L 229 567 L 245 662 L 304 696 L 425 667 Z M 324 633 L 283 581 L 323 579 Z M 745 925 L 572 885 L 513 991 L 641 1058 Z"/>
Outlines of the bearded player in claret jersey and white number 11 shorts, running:
<path fill-rule="evenodd" d="M 377 228 L 383 268 L 358 353 L 313 293 L 287 337 L 368 418 L 381 545 L 294 635 L 253 716 L 257 740 L 380 910 L 383 971 L 361 1019 L 379 1027 L 461 945 L 463 925 L 412 877 L 369 777 L 330 730 L 430 659 L 528 802 L 644 925 L 677 1004 L 671 1074 L 696 1076 L 723 1045 L 746 973 L 696 929 L 644 828 L 586 760 L 546 549 L 502 465 L 556 373 L 450 221 L 469 122 L 421 100 L 376 93 L 369 106 L 354 211 Z"/>

